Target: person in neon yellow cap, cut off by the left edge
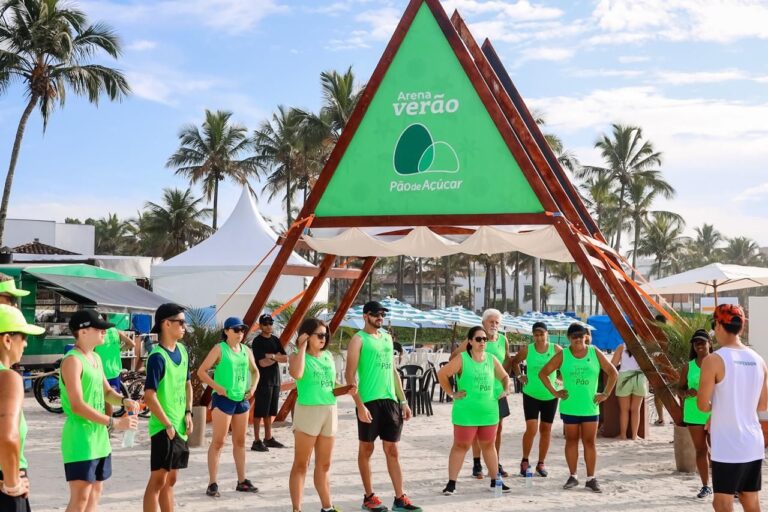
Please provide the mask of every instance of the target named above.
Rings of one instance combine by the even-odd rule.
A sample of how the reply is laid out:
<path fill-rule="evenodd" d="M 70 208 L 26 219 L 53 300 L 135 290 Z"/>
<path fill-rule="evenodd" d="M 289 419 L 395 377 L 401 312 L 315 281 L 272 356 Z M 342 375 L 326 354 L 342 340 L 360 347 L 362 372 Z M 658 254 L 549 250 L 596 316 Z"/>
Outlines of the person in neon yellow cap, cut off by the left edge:
<path fill-rule="evenodd" d="M 24 382 L 11 367 L 21 361 L 27 335 L 45 332 L 28 325 L 21 311 L 0 305 L 0 510 L 29 511 L 29 480 L 24 444 L 27 422 L 24 419 Z"/>

